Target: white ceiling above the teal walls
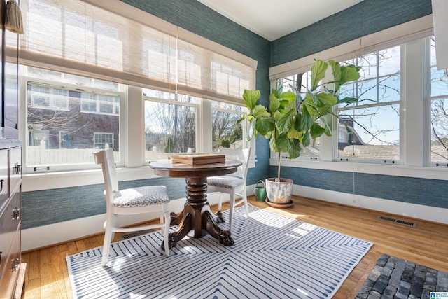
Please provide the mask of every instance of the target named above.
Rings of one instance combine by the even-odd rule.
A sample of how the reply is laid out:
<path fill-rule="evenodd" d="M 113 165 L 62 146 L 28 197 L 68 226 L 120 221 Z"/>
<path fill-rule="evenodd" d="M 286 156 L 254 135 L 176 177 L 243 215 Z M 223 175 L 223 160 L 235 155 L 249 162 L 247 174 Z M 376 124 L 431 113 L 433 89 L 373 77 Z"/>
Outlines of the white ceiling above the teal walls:
<path fill-rule="evenodd" d="M 197 1 L 251 32 L 274 41 L 363 0 Z"/>

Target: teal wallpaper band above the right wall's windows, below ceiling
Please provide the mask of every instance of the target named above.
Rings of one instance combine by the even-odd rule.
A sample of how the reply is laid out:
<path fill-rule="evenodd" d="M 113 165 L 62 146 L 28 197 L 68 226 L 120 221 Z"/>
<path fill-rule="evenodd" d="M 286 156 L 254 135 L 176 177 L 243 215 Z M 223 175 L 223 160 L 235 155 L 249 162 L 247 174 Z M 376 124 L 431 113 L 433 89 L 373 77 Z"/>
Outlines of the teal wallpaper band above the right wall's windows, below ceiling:
<path fill-rule="evenodd" d="M 431 0 L 364 0 L 273 41 L 271 66 L 318 53 L 432 12 Z"/>

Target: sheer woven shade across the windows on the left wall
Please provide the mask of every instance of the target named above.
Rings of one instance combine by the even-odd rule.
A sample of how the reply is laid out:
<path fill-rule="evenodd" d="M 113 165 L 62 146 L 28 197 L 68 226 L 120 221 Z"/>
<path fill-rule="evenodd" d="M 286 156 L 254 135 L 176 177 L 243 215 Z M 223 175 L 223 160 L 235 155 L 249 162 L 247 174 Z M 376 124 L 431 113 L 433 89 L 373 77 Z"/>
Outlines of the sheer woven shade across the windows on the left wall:
<path fill-rule="evenodd" d="M 257 62 L 118 0 L 20 1 L 20 63 L 241 104 Z"/>

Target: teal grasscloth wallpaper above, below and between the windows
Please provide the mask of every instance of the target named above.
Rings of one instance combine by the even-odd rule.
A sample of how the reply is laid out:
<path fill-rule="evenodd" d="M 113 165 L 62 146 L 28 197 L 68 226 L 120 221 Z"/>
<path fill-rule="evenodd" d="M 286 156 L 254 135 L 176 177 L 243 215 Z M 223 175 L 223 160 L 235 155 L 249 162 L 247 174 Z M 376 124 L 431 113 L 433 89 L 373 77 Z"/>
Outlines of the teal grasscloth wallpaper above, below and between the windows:
<path fill-rule="evenodd" d="M 257 60 L 256 88 L 262 92 L 260 100 L 263 104 L 267 104 L 269 99 L 269 67 L 317 53 L 359 36 L 414 20 L 432 12 L 430 0 L 364 0 L 314 25 L 269 42 L 195 0 L 121 1 Z M 255 184 L 259 179 L 274 176 L 276 173 L 276 167 L 269 166 L 269 144 L 262 137 L 256 141 L 256 155 L 258 162 L 255 169 L 249 169 L 248 185 Z M 360 195 L 434 207 L 448 205 L 436 200 L 440 195 L 447 194 L 447 187 L 438 180 L 293 167 L 282 167 L 282 174 L 294 179 L 295 183 L 302 186 L 325 188 L 343 193 L 356 192 Z M 312 179 L 316 177 L 323 183 L 317 186 L 316 179 Z M 120 188 L 159 184 L 167 186 L 170 198 L 183 197 L 185 194 L 183 179 L 156 178 L 125 181 L 120 182 Z M 431 188 L 431 191 L 426 193 L 428 196 L 423 195 L 426 186 Z M 102 184 L 98 184 L 24 192 L 22 193 L 22 227 L 34 228 L 103 214 L 105 206 L 102 190 Z"/>

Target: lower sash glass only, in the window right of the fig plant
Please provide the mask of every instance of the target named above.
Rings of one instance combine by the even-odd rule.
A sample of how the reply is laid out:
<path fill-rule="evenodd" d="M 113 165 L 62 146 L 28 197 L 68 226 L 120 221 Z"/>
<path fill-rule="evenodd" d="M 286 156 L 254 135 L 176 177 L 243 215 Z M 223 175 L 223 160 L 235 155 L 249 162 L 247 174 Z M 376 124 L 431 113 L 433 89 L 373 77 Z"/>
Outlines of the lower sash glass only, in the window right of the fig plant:
<path fill-rule="evenodd" d="M 339 112 L 339 158 L 400 159 L 400 105 Z"/>

